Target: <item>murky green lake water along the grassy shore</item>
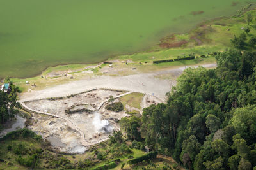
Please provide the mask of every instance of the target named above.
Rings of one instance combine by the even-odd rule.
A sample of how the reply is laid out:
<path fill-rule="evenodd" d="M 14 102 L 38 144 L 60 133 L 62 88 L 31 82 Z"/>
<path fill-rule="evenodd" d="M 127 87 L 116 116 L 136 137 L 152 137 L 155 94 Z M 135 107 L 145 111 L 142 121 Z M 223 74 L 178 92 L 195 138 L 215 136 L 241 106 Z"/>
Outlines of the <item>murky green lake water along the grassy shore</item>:
<path fill-rule="evenodd" d="M 136 52 L 202 20 L 234 15 L 244 4 L 246 0 L 0 0 L 0 78 Z"/>

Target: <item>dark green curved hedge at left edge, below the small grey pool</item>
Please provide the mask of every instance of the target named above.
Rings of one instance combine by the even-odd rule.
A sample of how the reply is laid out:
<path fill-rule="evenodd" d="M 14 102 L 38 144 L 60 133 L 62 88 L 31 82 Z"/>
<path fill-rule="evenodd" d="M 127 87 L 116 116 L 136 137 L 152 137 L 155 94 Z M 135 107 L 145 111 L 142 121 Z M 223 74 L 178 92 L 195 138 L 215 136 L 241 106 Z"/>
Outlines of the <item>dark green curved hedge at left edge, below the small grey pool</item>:
<path fill-rule="evenodd" d="M 33 139 L 36 139 L 37 141 L 42 141 L 42 136 L 37 135 L 35 132 L 31 131 L 30 129 L 19 129 L 17 131 L 12 131 L 8 134 L 6 134 L 6 136 L 3 136 L 2 138 L 0 138 L 0 141 L 4 141 L 8 138 L 13 138 L 13 139 L 17 139 L 19 137 L 23 137 L 23 138 L 27 138 L 27 137 L 31 137 Z"/>

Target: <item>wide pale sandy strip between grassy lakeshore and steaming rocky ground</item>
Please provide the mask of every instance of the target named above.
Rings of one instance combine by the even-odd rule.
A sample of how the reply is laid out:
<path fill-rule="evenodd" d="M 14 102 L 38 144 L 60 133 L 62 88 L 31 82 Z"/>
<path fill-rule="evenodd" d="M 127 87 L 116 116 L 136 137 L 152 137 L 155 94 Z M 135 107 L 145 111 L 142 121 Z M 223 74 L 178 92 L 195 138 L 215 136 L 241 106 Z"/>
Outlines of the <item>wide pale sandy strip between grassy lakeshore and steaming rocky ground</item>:
<path fill-rule="evenodd" d="M 216 67 L 214 64 L 198 65 L 203 67 Z M 195 67 L 198 67 L 195 66 Z M 165 95 L 175 85 L 175 80 L 156 78 L 161 74 L 174 74 L 179 76 L 184 71 L 185 67 L 169 69 L 166 71 L 157 71 L 152 73 L 140 73 L 129 76 L 95 76 L 81 80 L 74 80 L 63 85 L 48 87 L 44 90 L 36 90 L 26 92 L 20 97 L 20 101 L 31 101 L 35 99 L 44 99 L 49 97 L 61 97 L 70 94 L 77 94 L 92 88 L 109 88 L 120 89 L 133 92 L 142 92 L 148 95 L 154 94 L 159 99 L 165 99 Z M 142 85 L 144 83 L 144 85 Z"/>

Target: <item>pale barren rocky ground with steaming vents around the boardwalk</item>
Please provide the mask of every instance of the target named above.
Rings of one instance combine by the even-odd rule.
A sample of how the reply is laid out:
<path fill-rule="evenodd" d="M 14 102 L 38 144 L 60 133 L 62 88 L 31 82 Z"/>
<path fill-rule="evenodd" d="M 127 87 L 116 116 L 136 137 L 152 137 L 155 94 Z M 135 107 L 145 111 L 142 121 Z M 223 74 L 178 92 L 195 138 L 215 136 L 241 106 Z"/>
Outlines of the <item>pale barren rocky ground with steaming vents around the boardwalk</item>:
<path fill-rule="evenodd" d="M 69 97 L 27 101 L 26 105 L 37 111 L 67 117 L 84 132 L 86 140 L 93 143 L 108 138 L 111 132 L 120 128 L 116 122 L 122 117 L 129 116 L 125 111 L 115 113 L 106 110 L 104 107 L 108 103 L 99 111 L 95 111 L 102 101 L 109 99 L 109 96 L 118 96 L 122 93 L 124 91 L 97 89 Z M 28 127 L 41 134 L 53 148 L 61 152 L 81 153 L 86 150 L 86 147 L 79 144 L 80 134 L 70 129 L 67 122 L 61 118 L 33 113 Z"/>

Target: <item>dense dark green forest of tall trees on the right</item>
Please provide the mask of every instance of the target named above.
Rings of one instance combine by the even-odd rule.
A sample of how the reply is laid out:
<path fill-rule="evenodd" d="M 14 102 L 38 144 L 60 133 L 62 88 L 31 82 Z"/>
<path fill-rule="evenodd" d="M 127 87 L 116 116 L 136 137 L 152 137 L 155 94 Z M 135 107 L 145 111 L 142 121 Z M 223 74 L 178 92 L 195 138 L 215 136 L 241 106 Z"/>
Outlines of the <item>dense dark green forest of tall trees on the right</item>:
<path fill-rule="evenodd" d="M 216 69 L 186 69 L 167 104 L 122 118 L 127 138 L 188 169 L 256 169 L 256 52 L 228 49 L 216 60 Z"/>

